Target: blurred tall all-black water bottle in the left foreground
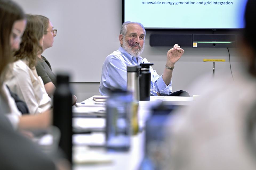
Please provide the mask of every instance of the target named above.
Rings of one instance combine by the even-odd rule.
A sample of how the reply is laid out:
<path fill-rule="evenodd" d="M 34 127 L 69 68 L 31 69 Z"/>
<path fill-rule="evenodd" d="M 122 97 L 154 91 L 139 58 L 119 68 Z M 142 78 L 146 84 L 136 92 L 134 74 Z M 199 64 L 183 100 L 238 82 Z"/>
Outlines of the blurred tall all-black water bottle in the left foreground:
<path fill-rule="evenodd" d="M 72 93 L 67 74 L 57 75 L 53 95 L 53 125 L 61 131 L 59 147 L 72 163 Z"/>

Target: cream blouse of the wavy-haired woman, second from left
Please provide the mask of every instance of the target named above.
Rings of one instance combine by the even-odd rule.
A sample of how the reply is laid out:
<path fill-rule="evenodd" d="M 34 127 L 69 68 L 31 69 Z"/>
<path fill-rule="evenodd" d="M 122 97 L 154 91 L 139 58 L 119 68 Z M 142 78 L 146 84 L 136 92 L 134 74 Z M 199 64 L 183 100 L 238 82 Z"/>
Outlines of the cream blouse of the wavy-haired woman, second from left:
<path fill-rule="evenodd" d="M 51 108 L 51 98 L 41 77 L 35 67 L 29 68 L 25 60 L 18 60 L 10 65 L 6 84 L 27 104 L 30 114 L 42 113 Z"/>

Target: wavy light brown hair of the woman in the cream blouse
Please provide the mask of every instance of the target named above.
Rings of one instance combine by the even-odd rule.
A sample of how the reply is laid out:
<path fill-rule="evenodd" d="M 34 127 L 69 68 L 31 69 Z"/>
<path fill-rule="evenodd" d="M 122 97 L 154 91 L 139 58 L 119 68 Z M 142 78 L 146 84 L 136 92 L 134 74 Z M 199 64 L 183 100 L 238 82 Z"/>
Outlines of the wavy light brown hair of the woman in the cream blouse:
<path fill-rule="evenodd" d="M 35 15 L 26 15 L 27 27 L 23 33 L 20 48 L 14 54 L 15 61 L 26 59 L 30 69 L 37 64 L 37 54 L 42 52 L 40 40 L 43 37 L 43 23 Z"/>

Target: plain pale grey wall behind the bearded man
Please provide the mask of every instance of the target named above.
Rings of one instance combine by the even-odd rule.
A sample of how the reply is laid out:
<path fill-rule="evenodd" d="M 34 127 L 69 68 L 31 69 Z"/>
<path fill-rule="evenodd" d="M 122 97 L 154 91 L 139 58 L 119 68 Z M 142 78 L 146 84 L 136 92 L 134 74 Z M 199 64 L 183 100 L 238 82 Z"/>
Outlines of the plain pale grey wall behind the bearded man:
<path fill-rule="evenodd" d="M 78 101 L 99 94 L 102 64 L 105 57 L 119 47 L 121 0 L 15 1 L 26 13 L 47 16 L 54 28 L 58 29 L 54 46 L 45 50 L 43 55 L 50 61 L 54 72 L 70 71 Z M 147 31 L 146 46 L 141 56 L 154 63 L 153 68 L 158 74 L 162 74 L 166 53 L 171 47 L 150 47 L 150 33 L 155 32 Z M 213 63 L 203 62 L 203 58 L 226 60 L 226 62 L 216 62 L 215 76 L 230 72 L 226 48 L 184 48 L 184 50 L 184 55 L 175 64 L 173 71 L 173 91 L 186 91 L 190 83 L 199 75 L 212 73 Z M 234 48 L 230 49 L 230 55 L 231 66 L 235 70 L 240 63 Z M 193 95 L 193 91 L 188 92 Z"/>

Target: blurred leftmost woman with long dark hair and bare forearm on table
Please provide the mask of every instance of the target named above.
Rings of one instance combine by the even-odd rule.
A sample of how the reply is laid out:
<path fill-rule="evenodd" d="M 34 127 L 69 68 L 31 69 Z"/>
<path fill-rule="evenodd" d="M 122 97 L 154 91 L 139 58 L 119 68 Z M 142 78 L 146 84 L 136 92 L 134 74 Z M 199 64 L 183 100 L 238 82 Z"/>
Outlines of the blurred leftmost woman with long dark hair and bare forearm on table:
<path fill-rule="evenodd" d="M 46 128 L 51 124 L 51 110 L 37 115 L 21 115 L 6 86 L 7 70 L 13 61 L 13 50 L 19 49 L 26 28 L 23 11 L 11 1 L 1 1 L 0 11 L 0 107 L 14 129 Z M 8 19 L 6 19 L 8 18 Z M 47 95 L 47 94 L 46 94 Z"/>

